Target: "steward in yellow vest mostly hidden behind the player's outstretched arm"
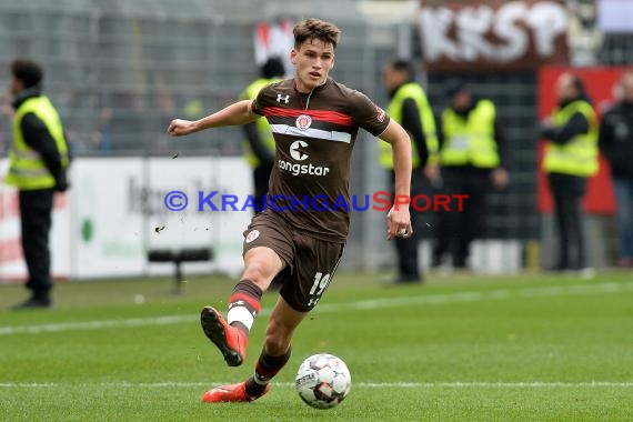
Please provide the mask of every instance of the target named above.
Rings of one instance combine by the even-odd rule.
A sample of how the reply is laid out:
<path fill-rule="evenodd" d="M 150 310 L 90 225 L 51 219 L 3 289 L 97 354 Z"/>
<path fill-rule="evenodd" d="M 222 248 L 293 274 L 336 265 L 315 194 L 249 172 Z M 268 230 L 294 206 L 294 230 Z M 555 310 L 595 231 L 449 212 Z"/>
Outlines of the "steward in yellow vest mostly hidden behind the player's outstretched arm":
<path fill-rule="evenodd" d="M 283 62 L 277 57 L 269 58 L 260 72 L 260 78 L 251 82 L 242 92 L 241 100 L 254 99 L 262 88 L 280 81 L 285 74 Z M 244 124 L 243 130 L 247 137 L 244 158 L 253 169 L 253 199 L 257 214 L 263 209 L 264 195 L 268 192 L 268 182 L 274 164 L 274 139 L 265 119 Z"/>

